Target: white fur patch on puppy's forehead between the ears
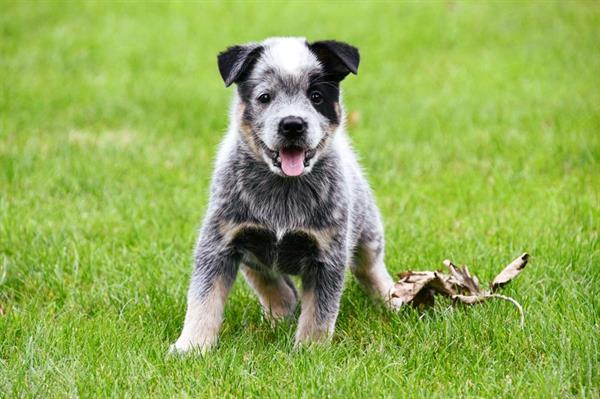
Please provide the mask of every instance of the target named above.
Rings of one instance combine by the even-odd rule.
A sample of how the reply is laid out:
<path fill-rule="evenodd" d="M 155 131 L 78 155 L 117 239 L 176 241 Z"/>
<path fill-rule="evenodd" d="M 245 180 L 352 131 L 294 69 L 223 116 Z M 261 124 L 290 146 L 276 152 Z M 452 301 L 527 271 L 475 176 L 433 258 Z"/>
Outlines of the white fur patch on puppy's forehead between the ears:
<path fill-rule="evenodd" d="M 298 73 L 319 66 L 317 57 L 308 49 L 303 37 L 277 37 L 263 43 L 265 64 L 288 73 Z"/>

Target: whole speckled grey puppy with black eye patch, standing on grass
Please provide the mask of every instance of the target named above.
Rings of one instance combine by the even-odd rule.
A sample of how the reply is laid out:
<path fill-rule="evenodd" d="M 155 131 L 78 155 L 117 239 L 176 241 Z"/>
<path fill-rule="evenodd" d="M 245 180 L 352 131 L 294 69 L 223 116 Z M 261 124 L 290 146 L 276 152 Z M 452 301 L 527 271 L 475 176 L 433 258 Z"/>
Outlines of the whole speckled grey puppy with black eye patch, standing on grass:
<path fill-rule="evenodd" d="M 181 336 L 172 351 L 217 342 L 238 270 L 273 320 L 299 301 L 296 344 L 331 337 L 344 272 L 392 308 L 383 229 L 344 131 L 340 82 L 356 74 L 358 50 L 338 41 L 272 38 L 218 56 L 225 86 L 237 85 Z"/>

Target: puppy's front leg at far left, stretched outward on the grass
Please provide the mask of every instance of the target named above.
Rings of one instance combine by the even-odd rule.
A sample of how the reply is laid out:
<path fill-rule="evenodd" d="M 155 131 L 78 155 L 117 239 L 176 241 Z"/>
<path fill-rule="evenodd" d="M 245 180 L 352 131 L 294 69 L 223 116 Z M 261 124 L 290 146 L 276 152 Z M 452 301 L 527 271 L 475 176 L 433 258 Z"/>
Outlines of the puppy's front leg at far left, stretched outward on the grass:
<path fill-rule="evenodd" d="M 237 274 L 233 253 L 220 237 L 203 232 L 196 247 L 195 267 L 188 291 L 181 335 L 171 352 L 206 352 L 217 342 L 225 300 Z"/>

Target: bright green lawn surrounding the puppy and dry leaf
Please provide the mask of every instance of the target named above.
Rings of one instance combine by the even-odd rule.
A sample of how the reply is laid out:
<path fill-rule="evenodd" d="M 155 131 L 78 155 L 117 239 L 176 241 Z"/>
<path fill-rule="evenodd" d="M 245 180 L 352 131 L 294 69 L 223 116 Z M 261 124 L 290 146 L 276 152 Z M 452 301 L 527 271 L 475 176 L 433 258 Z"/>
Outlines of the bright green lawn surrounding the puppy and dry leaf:
<path fill-rule="evenodd" d="M 221 341 L 169 358 L 232 89 L 271 35 L 361 49 L 350 129 L 388 267 L 451 258 L 504 302 L 390 314 L 347 279 L 294 351 L 240 279 Z M 0 4 L 0 397 L 598 397 L 600 6 Z"/>

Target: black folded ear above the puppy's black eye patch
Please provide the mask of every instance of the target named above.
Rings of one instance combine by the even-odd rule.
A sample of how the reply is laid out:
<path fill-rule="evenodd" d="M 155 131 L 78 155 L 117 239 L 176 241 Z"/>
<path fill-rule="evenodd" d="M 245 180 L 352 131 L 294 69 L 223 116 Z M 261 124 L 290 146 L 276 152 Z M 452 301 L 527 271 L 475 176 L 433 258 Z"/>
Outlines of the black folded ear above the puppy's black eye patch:
<path fill-rule="evenodd" d="M 356 47 L 335 40 L 313 42 L 308 47 L 323 64 L 325 73 L 328 75 L 342 80 L 350 72 L 355 75 L 358 72 L 360 54 Z"/>

